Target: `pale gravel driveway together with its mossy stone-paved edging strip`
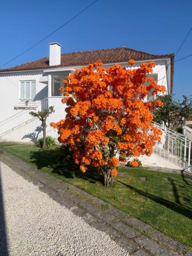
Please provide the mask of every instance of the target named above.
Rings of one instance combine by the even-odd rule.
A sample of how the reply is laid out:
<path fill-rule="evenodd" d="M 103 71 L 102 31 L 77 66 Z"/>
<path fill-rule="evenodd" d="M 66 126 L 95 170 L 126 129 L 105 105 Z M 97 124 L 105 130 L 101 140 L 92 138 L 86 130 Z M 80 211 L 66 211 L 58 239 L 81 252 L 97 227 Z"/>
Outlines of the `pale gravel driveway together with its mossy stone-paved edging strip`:
<path fill-rule="evenodd" d="M 190 248 L 86 192 L 8 153 L 0 158 L 7 221 L 1 222 L 6 236 L 0 243 L 7 239 L 10 255 L 192 255 Z"/>

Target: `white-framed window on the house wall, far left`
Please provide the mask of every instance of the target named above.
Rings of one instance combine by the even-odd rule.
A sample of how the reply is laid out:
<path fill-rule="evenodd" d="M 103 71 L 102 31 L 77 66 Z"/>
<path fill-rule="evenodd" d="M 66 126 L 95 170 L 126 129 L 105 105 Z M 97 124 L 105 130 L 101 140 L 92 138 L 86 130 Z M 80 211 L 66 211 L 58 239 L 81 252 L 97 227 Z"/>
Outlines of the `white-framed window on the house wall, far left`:
<path fill-rule="evenodd" d="M 34 99 L 35 85 L 35 81 L 20 81 L 20 99 Z"/>

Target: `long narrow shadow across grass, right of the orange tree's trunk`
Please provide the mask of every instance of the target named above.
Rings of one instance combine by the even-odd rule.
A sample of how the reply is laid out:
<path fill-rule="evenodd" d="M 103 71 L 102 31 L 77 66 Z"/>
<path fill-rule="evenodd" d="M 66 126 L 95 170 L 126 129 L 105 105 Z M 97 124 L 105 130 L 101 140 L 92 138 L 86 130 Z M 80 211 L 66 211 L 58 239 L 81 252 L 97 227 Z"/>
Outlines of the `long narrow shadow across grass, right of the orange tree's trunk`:
<path fill-rule="evenodd" d="M 184 206 L 181 206 L 181 205 L 178 205 L 176 203 L 173 203 L 173 202 L 170 202 L 166 199 L 163 199 L 163 198 L 160 198 L 160 197 L 157 197 L 157 196 L 154 196 L 150 193 L 146 193 L 138 188 L 135 188 L 133 186 L 130 186 L 122 181 L 119 181 L 117 180 L 119 183 L 121 183 L 122 185 L 126 186 L 126 187 L 129 187 L 130 189 L 133 189 L 136 193 L 138 193 L 139 195 L 143 196 L 143 197 L 146 197 L 146 198 L 149 198 L 151 200 L 153 200 L 154 202 L 156 203 L 159 203 L 161 205 L 164 205 L 165 207 L 169 208 L 169 209 L 172 209 L 176 212 L 178 212 L 179 214 L 182 214 L 183 216 L 191 219 L 192 218 L 192 210 L 191 209 L 188 209 Z"/>

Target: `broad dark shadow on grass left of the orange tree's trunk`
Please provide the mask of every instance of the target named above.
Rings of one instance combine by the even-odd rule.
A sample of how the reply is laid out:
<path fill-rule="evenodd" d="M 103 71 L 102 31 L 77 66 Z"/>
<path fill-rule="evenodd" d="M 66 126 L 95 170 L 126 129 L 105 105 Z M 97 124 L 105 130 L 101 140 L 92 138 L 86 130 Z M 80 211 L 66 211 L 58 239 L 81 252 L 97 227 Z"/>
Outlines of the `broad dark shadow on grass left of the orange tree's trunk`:
<path fill-rule="evenodd" d="M 32 151 L 30 153 L 31 163 L 38 169 L 48 167 L 50 172 L 68 179 L 82 178 L 90 183 L 100 182 L 96 168 L 90 167 L 86 173 L 79 170 L 79 166 L 74 163 L 71 153 L 65 147 L 56 147 L 49 150 Z"/>

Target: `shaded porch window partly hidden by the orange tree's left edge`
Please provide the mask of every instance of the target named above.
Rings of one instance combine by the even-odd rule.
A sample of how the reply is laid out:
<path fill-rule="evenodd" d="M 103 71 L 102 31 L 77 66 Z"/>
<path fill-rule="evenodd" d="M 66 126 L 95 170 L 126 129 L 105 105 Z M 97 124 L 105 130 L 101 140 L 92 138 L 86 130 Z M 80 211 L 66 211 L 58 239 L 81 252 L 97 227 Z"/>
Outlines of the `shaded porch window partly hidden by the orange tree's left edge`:
<path fill-rule="evenodd" d="M 64 79 L 67 79 L 69 74 L 67 75 L 54 75 L 51 77 L 51 96 L 62 96 L 63 92 L 59 91 L 60 87 L 65 87 L 62 83 Z"/>

